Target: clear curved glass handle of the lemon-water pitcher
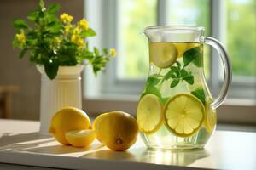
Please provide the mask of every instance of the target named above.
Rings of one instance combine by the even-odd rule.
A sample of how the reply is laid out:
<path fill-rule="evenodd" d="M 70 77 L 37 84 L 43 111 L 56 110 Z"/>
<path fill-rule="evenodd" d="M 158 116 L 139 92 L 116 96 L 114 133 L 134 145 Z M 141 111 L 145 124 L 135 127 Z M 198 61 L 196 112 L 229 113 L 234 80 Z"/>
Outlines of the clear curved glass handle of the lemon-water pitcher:
<path fill-rule="evenodd" d="M 220 93 L 218 94 L 218 98 L 212 102 L 212 109 L 216 109 L 219 105 L 223 104 L 224 99 L 227 97 L 232 80 L 232 67 L 229 56 L 221 42 L 212 37 L 204 37 L 203 39 L 204 43 L 212 46 L 218 51 L 218 54 L 220 55 L 220 58 L 224 65 L 224 82 L 220 90 Z"/>

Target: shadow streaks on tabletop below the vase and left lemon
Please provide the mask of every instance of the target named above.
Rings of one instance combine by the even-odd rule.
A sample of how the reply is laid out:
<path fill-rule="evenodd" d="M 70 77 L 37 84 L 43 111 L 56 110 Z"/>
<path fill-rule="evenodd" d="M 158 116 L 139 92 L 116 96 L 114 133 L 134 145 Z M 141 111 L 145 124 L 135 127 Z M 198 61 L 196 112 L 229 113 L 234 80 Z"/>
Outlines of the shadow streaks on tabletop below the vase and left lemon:
<path fill-rule="evenodd" d="M 3 133 L 0 137 L 0 150 L 4 151 L 26 151 L 60 155 L 97 150 L 102 147 L 102 144 L 95 143 L 88 148 L 74 148 L 70 145 L 59 144 L 52 137 L 40 135 L 39 133 Z"/>

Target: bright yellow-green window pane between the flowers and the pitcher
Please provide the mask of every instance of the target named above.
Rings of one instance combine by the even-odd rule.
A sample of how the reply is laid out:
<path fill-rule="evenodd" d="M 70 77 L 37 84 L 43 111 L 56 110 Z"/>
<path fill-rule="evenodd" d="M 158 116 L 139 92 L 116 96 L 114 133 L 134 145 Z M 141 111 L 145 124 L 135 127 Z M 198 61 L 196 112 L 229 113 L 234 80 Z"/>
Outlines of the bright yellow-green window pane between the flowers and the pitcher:
<path fill-rule="evenodd" d="M 148 75 L 148 42 L 140 32 L 156 26 L 156 0 L 119 1 L 119 78 Z"/>

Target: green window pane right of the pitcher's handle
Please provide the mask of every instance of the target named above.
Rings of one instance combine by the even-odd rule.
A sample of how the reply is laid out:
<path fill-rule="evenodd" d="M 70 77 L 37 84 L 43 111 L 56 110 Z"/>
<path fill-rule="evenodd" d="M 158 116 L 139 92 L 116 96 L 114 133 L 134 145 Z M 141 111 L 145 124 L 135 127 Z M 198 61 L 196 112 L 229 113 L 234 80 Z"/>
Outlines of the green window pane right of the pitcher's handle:
<path fill-rule="evenodd" d="M 256 76 L 256 1 L 226 0 L 227 45 L 233 75 Z"/>

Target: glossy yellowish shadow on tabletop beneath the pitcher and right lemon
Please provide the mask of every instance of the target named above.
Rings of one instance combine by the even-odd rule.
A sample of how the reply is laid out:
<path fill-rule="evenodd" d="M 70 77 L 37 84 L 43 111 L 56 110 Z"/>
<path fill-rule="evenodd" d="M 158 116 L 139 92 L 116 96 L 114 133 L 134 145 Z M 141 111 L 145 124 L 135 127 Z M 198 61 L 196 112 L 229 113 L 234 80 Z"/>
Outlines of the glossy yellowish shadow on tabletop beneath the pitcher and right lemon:
<path fill-rule="evenodd" d="M 207 150 L 148 150 L 146 148 L 131 148 L 123 152 L 99 150 L 81 157 L 103 159 L 109 161 L 137 161 L 153 164 L 187 166 L 200 159 L 210 156 Z"/>

